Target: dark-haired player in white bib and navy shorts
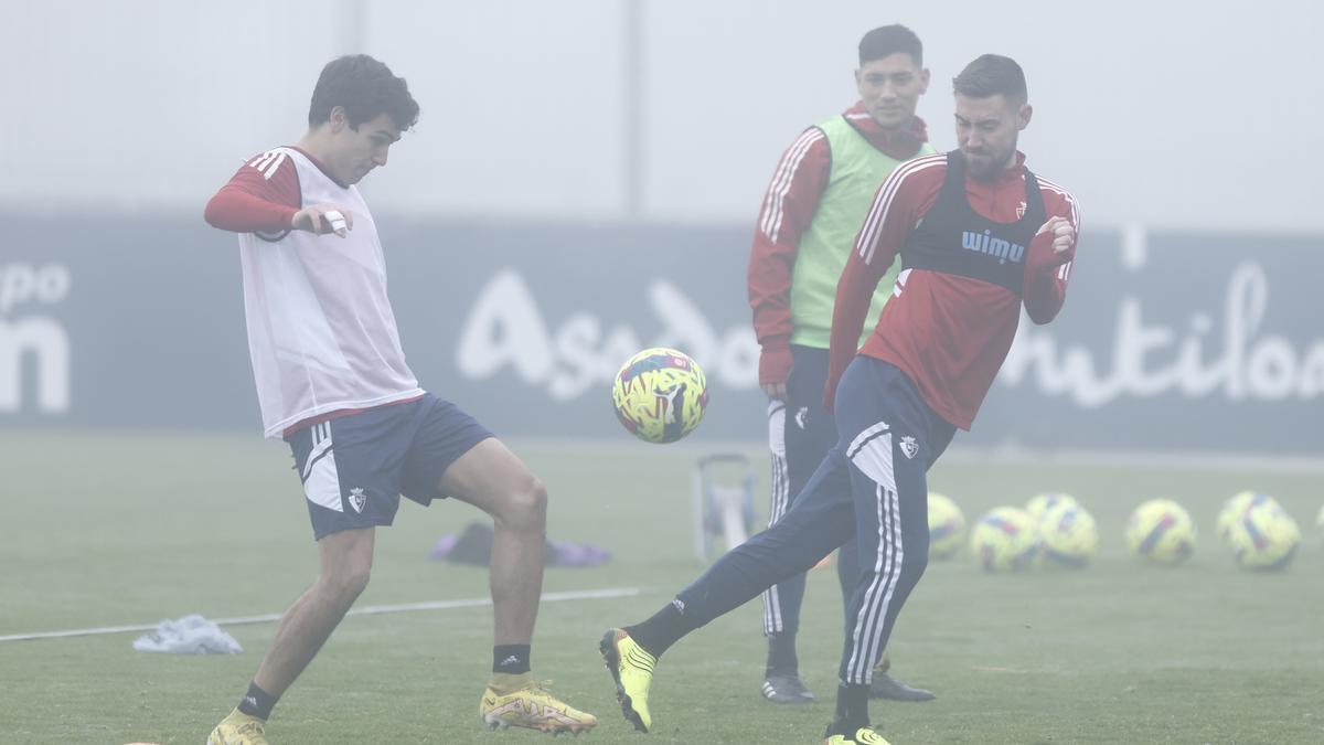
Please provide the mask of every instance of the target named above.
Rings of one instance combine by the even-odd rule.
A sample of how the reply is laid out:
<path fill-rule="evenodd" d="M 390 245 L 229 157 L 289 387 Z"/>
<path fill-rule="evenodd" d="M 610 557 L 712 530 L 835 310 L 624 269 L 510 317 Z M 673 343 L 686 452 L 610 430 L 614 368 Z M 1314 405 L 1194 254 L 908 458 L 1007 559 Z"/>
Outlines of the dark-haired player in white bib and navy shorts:
<path fill-rule="evenodd" d="M 322 569 L 285 612 L 238 707 L 208 742 L 261 745 L 271 708 L 368 585 L 375 530 L 400 496 L 454 497 L 493 517 L 490 726 L 597 724 L 534 681 L 547 492 L 482 424 L 418 387 L 387 298 L 387 266 L 359 180 L 418 118 L 404 78 L 365 54 L 318 78 L 297 146 L 249 159 L 207 221 L 238 233 L 249 353 L 267 437 L 294 451 Z"/>

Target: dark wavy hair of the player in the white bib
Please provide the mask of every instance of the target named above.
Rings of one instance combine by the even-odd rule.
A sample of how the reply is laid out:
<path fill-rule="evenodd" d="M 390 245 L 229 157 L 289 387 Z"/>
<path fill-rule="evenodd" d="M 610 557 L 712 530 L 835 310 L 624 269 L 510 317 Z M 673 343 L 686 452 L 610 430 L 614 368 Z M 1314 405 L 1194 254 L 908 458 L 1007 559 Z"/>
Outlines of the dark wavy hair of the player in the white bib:
<path fill-rule="evenodd" d="M 409 95 L 405 78 L 367 54 L 338 57 L 322 68 L 308 105 L 308 126 L 324 123 L 336 106 L 344 106 L 344 118 L 355 130 L 381 114 L 389 114 L 400 131 L 418 121 L 418 102 Z"/>

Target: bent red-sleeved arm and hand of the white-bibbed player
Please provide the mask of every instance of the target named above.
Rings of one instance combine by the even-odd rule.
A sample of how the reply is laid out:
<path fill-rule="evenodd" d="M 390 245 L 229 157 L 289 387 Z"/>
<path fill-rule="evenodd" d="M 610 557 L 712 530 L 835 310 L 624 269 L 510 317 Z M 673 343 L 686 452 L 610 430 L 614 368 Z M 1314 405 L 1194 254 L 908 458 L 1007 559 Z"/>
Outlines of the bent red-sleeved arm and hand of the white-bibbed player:
<path fill-rule="evenodd" d="M 338 211 L 346 228 L 354 215 L 335 204 L 302 205 L 294 162 L 281 151 L 250 158 L 207 203 L 204 217 L 213 228 L 236 233 L 281 235 L 287 231 L 338 232 L 327 212 Z"/>

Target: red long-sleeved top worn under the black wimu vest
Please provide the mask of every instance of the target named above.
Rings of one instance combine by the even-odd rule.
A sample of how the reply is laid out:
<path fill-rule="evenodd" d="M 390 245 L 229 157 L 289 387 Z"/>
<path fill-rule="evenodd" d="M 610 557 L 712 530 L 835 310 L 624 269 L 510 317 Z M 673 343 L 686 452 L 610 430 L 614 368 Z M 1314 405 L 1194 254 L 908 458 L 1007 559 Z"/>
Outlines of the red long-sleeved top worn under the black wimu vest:
<path fill-rule="evenodd" d="M 837 382 L 855 355 L 874 288 L 937 203 L 947 168 L 947 155 L 918 158 L 898 167 L 878 190 L 837 285 L 826 406 L 831 406 Z M 1042 176 L 1037 180 L 1047 217 L 1067 219 L 1079 240 L 1075 199 Z M 1016 164 L 993 182 L 967 175 L 964 183 L 967 203 L 976 215 L 1012 224 L 1025 213 L 1023 154 L 1017 152 Z M 953 251 L 965 248 L 957 245 Z M 902 258 L 904 261 L 906 256 Z M 906 269 L 859 354 L 899 367 L 935 414 L 969 430 L 1006 359 L 1021 306 L 1035 323 L 1051 321 L 1066 298 L 1074 258 L 1075 244 L 1066 253 L 1054 255 L 1051 233 L 1034 236 L 1025 249 L 1019 293 L 1006 286 L 1010 282 L 933 268 Z"/>

